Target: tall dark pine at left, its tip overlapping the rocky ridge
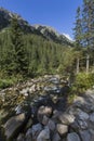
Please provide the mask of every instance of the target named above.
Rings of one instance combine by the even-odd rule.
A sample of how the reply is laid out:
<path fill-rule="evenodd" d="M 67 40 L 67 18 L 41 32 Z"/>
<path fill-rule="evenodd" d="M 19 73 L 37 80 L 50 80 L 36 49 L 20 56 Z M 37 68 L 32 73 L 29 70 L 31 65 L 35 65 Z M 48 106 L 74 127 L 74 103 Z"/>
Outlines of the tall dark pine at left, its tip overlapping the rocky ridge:
<path fill-rule="evenodd" d="M 13 62 L 14 62 L 14 72 L 26 74 L 28 73 L 28 57 L 27 51 L 23 43 L 23 33 L 18 24 L 17 17 L 13 16 L 11 21 L 11 46 L 13 49 Z"/>

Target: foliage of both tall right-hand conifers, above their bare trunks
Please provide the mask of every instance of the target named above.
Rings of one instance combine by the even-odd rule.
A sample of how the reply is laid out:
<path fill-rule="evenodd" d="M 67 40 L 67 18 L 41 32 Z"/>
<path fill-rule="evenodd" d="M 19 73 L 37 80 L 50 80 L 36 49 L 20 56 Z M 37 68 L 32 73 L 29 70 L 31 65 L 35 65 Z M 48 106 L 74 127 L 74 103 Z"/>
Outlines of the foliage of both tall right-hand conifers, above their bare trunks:
<path fill-rule="evenodd" d="M 75 39 L 76 47 L 86 48 L 86 53 L 94 53 L 94 1 L 83 0 L 82 8 L 77 9 L 75 23 Z M 92 54 L 94 55 L 94 54 Z"/>

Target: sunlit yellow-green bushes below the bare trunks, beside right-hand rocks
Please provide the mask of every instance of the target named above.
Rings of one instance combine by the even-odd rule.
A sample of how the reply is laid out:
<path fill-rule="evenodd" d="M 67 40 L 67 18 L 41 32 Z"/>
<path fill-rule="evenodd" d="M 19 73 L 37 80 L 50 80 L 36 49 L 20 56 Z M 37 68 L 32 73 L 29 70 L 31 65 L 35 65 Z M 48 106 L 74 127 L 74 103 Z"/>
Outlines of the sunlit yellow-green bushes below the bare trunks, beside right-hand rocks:
<path fill-rule="evenodd" d="M 68 104 L 71 104 L 78 94 L 84 93 L 85 90 L 94 86 L 94 74 L 79 73 L 75 76 L 72 86 L 68 93 Z"/>

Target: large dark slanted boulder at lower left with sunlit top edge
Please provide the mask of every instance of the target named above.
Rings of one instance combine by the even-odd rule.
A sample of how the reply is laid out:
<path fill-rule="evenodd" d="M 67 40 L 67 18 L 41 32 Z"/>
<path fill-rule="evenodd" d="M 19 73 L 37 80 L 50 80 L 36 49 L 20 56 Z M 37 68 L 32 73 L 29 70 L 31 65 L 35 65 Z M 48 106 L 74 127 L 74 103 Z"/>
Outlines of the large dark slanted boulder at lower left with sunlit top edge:
<path fill-rule="evenodd" d="M 4 124 L 3 128 L 4 128 L 4 134 L 6 137 L 6 140 L 10 140 L 22 130 L 25 120 L 26 120 L 26 115 L 25 113 L 23 113 L 17 116 L 11 117 Z"/>

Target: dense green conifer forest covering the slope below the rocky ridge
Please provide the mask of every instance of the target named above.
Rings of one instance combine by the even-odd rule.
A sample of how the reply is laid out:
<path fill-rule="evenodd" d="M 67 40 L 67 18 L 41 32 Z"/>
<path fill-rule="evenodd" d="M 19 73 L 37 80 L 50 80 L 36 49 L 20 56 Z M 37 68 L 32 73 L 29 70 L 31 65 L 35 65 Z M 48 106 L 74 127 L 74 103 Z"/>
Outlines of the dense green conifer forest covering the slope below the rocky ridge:
<path fill-rule="evenodd" d="M 13 17 L 10 28 L 0 33 L 0 69 L 5 76 L 35 77 L 63 74 L 73 68 L 75 50 L 41 36 L 25 35 Z M 25 78 L 26 78 L 25 77 Z"/>

